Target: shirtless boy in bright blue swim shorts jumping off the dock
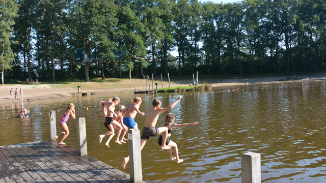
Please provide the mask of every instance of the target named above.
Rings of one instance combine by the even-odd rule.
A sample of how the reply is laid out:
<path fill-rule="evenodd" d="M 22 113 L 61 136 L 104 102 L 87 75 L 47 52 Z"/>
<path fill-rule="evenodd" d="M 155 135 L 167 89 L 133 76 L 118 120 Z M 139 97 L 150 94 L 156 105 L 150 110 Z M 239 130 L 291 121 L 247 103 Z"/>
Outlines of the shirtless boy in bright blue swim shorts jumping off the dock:
<path fill-rule="evenodd" d="M 135 97 L 133 104 L 128 105 L 121 112 L 125 113 L 123 117 L 123 124 L 131 129 L 138 129 L 137 123 L 135 123 L 134 118 L 136 114 L 145 115 L 144 112 L 139 110 L 139 106 L 142 104 L 142 99 L 140 97 Z"/>

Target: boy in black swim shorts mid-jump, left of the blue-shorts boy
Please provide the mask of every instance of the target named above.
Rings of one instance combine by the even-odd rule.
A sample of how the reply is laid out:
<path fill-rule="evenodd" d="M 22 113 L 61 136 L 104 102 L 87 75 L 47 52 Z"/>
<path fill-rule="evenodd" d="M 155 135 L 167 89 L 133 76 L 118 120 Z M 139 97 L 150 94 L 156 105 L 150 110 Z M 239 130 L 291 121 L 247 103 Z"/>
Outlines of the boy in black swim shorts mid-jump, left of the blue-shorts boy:
<path fill-rule="evenodd" d="M 102 104 L 104 105 L 103 106 L 103 119 L 105 121 L 104 126 L 108 129 L 108 132 L 106 132 L 103 135 L 99 135 L 98 136 L 98 142 L 101 143 L 102 139 L 105 136 L 110 135 L 110 137 L 108 137 L 108 140 L 105 143 L 106 147 L 110 147 L 110 146 L 108 146 L 108 143 L 110 143 L 110 140 L 115 135 L 113 125 L 117 129 L 117 138 L 116 138 L 115 142 L 118 143 L 118 144 L 122 144 L 119 141 L 119 137 L 120 137 L 120 134 L 121 134 L 121 131 L 122 131 L 122 127 L 116 120 L 114 120 L 114 118 L 117 118 L 117 114 L 114 112 L 114 109 L 115 109 L 115 106 L 119 104 L 119 102 L 120 102 L 119 97 L 114 97 L 112 99 L 112 101 L 111 101 L 111 99 L 108 102 L 101 101 L 100 105 L 99 105 L 100 110 L 101 110 Z"/>

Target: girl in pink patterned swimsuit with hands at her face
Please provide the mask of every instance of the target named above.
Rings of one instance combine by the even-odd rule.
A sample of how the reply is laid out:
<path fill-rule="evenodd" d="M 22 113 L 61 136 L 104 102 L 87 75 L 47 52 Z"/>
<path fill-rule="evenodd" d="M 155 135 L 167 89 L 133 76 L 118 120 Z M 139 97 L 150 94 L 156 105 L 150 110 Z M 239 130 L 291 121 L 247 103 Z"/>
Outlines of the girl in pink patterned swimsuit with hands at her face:
<path fill-rule="evenodd" d="M 69 116 L 71 115 L 71 117 L 73 119 L 76 118 L 75 116 L 75 105 L 73 105 L 73 103 L 68 104 L 67 109 L 65 110 L 65 112 L 62 114 L 61 120 L 59 121 L 59 127 L 61 127 L 61 129 L 63 130 L 63 132 L 61 132 L 60 134 L 58 134 L 57 136 L 55 136 L 57 142 L 58 142 L 58 138 L 60 136 L 63 136 L 59 142 L 60 145 L 64 145 L 66 143 L 64 143 L 63 141 L 68 137 L 69 135 L 69 129 L 67 126 L 67 121 L 69 119 Z"/>

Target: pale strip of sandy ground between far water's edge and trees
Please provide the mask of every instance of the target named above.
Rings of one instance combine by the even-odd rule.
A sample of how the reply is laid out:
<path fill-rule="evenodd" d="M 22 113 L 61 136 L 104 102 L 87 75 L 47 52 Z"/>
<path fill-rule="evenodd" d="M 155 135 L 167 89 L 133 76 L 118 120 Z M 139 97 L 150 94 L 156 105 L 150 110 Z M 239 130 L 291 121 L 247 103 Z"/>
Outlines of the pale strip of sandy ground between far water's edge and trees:
<path fill-rule="evenodd" d="M 299 76 L 298 76 L 299 77 Z M 207 78 L 206 81 L 212 86 L 221 85 L 238 85 L 241 84 L 267 84 L 270 82 L 292 82 L 292 81 L 280 81 L 280 76 L 270 76 L 270 77 L 249 77 L 249 78 L 236 78 L 236 79 L 219 79 L 219 78 Z M 326 79 L 326 73 L 315 73 L 311 75 L 301 75 L 300 78 L 310 78 L 310 79 Z M 166 79 L 164 79 L 166 80 Z M 191 81 L 191 80 L 190 80 Z M 203 82 L 203 81 L 202 81 Z M 298 80 L 300 82 L 300 80 Z M 161 81 L 159 78 L 154 78 L 154 83 L 158 83 L 158 87 L 161 87 Z M 21 100 L 10 99 L 10 89 L 16 88 L 23 89 L 23 101 L 34 101 L 41 99 L 56 99 L 67 97 L 73 92 L 77 92 L 77 85 L 82 85 L 80 92 L 92 92 L 92 93 L 119 93 L 119 92 L 133 92 L 133 85 L 137 86 L 138 90 L 143 90 L 143 86 L 146 80 L 144 79 L 123 79 L 118 80 L 118 82 L 73 82 L 73 83 L 63 83 L 63 84 L 5 84 L 0 85 L 0 104 L 8 104 L 12 102 L 21 102 Z M 152 82 L 150 83 L 152 85 Z M 169 83 L 167 81 L 163 82 L 164 86 L 167 87 Z M 170 86 L 185 86 L 189 84 L 189 78 L 185 79 L 174 79 L 171 81 Z M 155 87 L 155 85 L 154 85 Z M 14 98 L 14 95 L 13 95 Z M 20 93 L 18 94 L 18 99 L 21 99 Z"/>

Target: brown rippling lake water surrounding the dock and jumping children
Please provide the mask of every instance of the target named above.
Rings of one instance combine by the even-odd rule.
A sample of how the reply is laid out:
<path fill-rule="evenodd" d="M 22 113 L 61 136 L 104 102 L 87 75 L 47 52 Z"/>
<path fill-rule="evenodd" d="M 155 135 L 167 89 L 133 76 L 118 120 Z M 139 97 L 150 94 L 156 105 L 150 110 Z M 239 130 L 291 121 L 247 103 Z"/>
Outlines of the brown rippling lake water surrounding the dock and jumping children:
<path fill-rule="evenodd" d="M 146 182 L 241 182 L 240 156 L 248 151 L 261 154 L 263 182 L 322 182 L 326 176 L 325 83 L 305 85 L 288 83 L 244 85 L 234 92 L 231 89 L 213 88 L 208 92 L 185 92 L 183 99 L 171 110 L 160 115 L 157 127 L 171 112 L 175 123 L 192 123 L 196 126 L 177 128 L 171 140 L 178 144 L 179 156 L 184 162 L 177 164 L 161 150 L 158 137 L 151 137 L 142 151 L 143 177 Z M 121 169 L 122 159 L 128 155 L 128 145 L 111 140 L 106 148 L 98 135 L 106 132 L 99 101 L 114 95 L 91 95 L 4 105 L 0 111 L 2 127 L 0 145 L 49 139 L 49 110 L 56 110 L 59 122 L 67 104 L 75 104 L 76 116 L 85 117 L 88 154 L 104 163 Z M 121 104 L 132 103 L 134 94 L 118 95 Z M 162 107 L 174 102 L 176 93 L 141 94 L 140 110 L 135 121 L 144 127 L 146 114 L 154 97 L 162 100 Z M 30 118 L 12 118 L 22 107 L 34 115 Z M 89 108 L 89 110 L 86 109 Z M 117 106 L 118 107 L 118 106 Z M 79 108 L 79 109 L 78 109 Z M 59 111 L 58 111 L 59 110 Z M 7 119 L 8 117 L 8 119 Z M 77 146 L 76 120 L 69 119 L 70 135 L 65 142 Z M 61 128 L 57 126 L 57 132 Z M 115 137 L 114 137 L 115 139 Z"/>

